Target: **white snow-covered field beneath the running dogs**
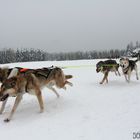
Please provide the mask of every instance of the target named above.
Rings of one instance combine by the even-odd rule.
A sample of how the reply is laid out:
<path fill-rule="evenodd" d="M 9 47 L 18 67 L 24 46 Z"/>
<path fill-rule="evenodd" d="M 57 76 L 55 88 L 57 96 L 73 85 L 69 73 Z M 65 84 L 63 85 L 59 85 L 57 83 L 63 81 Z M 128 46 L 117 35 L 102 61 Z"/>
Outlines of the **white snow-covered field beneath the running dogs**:
<path fill-rule="evenodd" d="M 67 86 L 66 91 L 57 89 L 60 98 L 45 88 L 45 111 L 41 114 L 36 97 L 24 95 L 11 122 L 4 123 L 14 102 L 10 98 L 0 115 L 0 139 L 133 140 L 133 132 L 140 132 L 140 81 L 134 72 L 131 83 L 126 83 L 123 75 L 110 73 L 109 84 L 100 85 L 103 74 L 95 71 L 98 61 L 7 64 L 28 68 L 67 66 L 64 72 L 74 76 L 70 79 L 74 86 Z"/>

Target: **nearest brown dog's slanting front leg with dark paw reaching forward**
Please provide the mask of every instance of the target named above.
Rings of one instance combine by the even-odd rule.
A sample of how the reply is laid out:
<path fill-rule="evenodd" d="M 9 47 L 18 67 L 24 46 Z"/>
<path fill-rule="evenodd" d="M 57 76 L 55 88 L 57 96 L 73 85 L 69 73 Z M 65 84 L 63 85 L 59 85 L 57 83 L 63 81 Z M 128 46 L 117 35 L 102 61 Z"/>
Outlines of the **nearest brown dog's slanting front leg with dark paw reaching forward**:
<path fill-rule="evenodd" d="M 17 109 L 17 107 L 18 107 L 18 105 L 21 101 L 21 99 L 22 99 L 22 94 L 20 94 L 16 97 L 16 100 L 15 100 L 14 106 L 12 108 L 12 111 L 11 111 L 9 117 L 4 120 L 5 122 L 9 122 L 12 119 L 12 117 L 13 117 L 13 115 L 14 115 L 14 113 L 15 113 L 15 111 L 16 111 L 16 109 Z"/>

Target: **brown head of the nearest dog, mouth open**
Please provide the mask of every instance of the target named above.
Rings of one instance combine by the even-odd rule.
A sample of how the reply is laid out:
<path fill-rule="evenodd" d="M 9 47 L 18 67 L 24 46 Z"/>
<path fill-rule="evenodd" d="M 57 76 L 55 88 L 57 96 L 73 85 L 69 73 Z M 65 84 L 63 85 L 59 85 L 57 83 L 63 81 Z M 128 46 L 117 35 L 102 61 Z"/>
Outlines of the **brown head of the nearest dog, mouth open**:
<path fill-rule="evenodd" d="M 17 77 L 7 79 L 1 85 L 0 101 L 5 101 L 9 96 L 15 96 L 17 93 Z"/>

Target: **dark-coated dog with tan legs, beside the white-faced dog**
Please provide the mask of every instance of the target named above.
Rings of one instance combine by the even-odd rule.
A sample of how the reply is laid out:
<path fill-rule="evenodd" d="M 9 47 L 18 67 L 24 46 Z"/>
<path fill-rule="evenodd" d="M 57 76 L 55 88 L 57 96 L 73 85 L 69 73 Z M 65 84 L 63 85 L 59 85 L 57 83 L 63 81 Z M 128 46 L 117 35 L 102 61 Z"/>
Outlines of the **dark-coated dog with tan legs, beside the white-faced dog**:
<path fill-rule="evenodd" d="M 108 74 L 109 72 L 115 72 L 115 74 L 120 76 L 120 72 L 119 72 L 119 64 L 117 64 L 117 62 L 115 60 L 106 60 L 106 61 L 99 61 L 96 64 L 96 72 L 102 72 L 104 74 L 104 77 L 102 79 L 102 81 L 100 82 L 100 84 L 103 84 L 106 80 L 106 82 L 108 83 Z"/>

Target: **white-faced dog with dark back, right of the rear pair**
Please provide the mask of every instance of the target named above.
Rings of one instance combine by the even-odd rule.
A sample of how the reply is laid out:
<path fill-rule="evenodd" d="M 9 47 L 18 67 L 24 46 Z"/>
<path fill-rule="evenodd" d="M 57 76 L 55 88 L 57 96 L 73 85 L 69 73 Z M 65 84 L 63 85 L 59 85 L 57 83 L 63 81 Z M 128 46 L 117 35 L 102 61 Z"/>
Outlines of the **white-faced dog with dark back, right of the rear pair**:
<path fill-rule="evenodd" d="M 125 76 L 126 81 L 130 82 L 131 73 L 133 70 L 136 72 L 136 79 L 138 80 L 138 68 L 137 62 L 138 60 L 129 60 L 128 58 L 121 58 L 120 59 L 120 66 L 122 67 L 123 74 Z"/>

